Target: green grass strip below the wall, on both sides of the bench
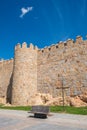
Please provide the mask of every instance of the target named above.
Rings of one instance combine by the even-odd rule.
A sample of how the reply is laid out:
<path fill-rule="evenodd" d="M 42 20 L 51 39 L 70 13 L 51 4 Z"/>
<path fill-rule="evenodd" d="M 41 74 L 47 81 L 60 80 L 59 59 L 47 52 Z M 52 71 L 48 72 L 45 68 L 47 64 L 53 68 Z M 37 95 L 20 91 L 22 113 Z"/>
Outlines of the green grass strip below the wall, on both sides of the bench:
<path fill-rule="evenodd" d="M 10 109 L 10 110 L 24 110 L 29 111 L 31 110 L 30 106 L 3 106 L 0 105 L 0 109 Z M 62 106 L 50 106 L 50 111 L 55 113 L 70 113 L 70 114 L 80 114 L 80 115 L 87 115 L 87 107 L 70 107 L 65 106 L 64 108 Z"/>

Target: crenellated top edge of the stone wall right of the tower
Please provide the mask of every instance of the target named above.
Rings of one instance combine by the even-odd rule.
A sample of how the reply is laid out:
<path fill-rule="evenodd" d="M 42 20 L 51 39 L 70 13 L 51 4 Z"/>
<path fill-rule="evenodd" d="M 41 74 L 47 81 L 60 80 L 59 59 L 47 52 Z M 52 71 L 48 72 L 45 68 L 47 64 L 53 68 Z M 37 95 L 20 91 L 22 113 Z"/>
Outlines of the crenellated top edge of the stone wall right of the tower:
<path fill-rule="evenodd" d="M 39 53 L 45 53 L 49 51 L 55 51 L 56 49 L 65 49 L 65 48 L 70 48 L 73 46 L 77 46 L 77 44 L 83 44 L 85 41 L 83 41 L 81 36 L 77 36 L 76 40 L 74 41 L 73 39 L 68 39 L 67 41 L 60 41 L 57 44 L 52 44 L 49 47 L 45 47 L 42 49 L 39 49 Z"/>

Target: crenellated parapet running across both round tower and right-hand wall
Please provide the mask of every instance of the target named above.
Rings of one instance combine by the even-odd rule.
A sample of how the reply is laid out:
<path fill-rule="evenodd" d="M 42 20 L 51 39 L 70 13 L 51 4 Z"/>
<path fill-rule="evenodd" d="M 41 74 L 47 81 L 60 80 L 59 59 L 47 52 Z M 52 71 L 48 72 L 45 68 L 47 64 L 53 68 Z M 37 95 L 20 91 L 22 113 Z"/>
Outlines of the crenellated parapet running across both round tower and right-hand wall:
<path fill-rule="evenodd" d="M 20 50 L 37 50 L 39 53 L 47 53 L 49 51 L 55 51 L 56 49 L 65 49 L 65 48 L 70 48 L 73 47 L 77 44 L 83 44 L 83 39 L 81 36 L 77 36 L 76 40 L 74 41 L 73 39 L 68 39 L 67 41 L 60 41 L 57 44 L 52 44 L 49 47 L 44 47 L 42 49 L 38 49 L 37 46 L 34 46 L 32 43 L 28 45 L 26 42 L 23 42 L 22 44 L 18 43 L 15 46 L 15 51 L 20 51 Z"/>

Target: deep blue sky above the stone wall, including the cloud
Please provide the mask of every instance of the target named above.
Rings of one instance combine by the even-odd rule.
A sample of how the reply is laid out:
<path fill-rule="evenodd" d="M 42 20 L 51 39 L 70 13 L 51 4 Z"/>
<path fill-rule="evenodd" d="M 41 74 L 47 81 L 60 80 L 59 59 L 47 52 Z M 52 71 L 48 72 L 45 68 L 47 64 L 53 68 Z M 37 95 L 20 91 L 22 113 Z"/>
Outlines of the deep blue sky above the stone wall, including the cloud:
<path fill-rule="evenodd" d="M 87 0 L 0 0 L 0 58 L 17 43 L 43 48 L 77 35 L 87 35 Z"/>

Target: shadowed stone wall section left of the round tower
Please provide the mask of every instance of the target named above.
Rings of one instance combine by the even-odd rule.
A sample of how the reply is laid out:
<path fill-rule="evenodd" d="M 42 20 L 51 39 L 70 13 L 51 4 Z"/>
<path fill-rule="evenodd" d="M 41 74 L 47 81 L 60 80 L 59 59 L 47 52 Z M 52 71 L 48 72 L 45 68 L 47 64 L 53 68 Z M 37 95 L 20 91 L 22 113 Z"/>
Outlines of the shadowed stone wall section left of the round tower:
<path fill-rule="evenodd" d="M 0 102 L 8 102 L 11 97 L 13 59 L 0 61 Z"/>

